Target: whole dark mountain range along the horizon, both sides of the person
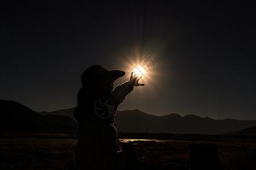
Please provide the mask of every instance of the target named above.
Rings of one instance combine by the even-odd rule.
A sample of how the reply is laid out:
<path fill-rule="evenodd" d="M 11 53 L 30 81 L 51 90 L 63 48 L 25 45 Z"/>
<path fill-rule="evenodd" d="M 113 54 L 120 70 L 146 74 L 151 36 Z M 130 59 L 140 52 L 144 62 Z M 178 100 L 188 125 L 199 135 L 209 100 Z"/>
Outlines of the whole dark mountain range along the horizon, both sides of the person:
<path fill-rule="evenodd" d="M 0 100 L 0 131 L 77 130 L 75 108 L 54 112 L 35 112 L 15 101 Z M 256 134 L 256 120 L 214 120 L 193 114 L 154 116 L 139 110 L 118 111 L 115 122 L 119 132 L 222 134 Z"/>

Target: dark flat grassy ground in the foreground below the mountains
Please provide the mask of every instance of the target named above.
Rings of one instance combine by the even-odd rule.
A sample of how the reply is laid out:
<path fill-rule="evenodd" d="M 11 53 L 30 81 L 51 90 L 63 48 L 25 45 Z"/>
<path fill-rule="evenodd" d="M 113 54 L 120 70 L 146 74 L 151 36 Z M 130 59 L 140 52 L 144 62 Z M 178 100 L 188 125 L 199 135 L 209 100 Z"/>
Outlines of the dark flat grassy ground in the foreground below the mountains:
<path fill-rule="evenodd" d="M 188 145 L 217 146 L 220 169 L 256 169 L 255 135 L 120 133 L 119 138 L 164 139 L 134 141 L 139 169 L 188 169 Z M 0 133 L 0 169 L 74 169 L 77 134 Z"/>

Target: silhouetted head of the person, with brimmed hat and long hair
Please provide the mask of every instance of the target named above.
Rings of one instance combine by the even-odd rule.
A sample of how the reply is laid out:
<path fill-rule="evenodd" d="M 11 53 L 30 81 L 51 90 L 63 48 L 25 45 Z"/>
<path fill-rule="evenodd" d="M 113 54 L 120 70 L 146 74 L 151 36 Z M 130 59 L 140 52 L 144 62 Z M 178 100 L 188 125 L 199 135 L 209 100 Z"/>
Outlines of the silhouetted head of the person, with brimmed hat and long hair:
<path fill-rule="evenodd" d="M 125 75 L 124 71 L 108 71 L 99 65 L 86 69 L 81 75 L 82 88 L 77 94 L 77 104 L 80 107 L 77 107 L 73 113 L 76 120 L 80 121 L 90 116 L 90 114 L 85 114 L 84 109 L 92 109 L 98 99 L 108 97 L 110 90 L 113 89 L 114 81 L 123 75 Z"/>

